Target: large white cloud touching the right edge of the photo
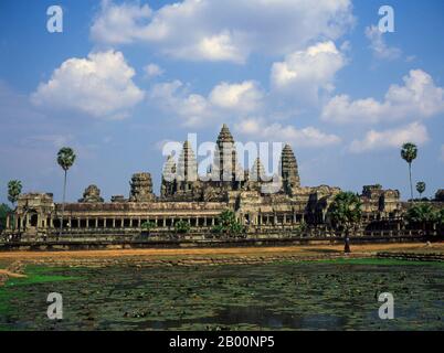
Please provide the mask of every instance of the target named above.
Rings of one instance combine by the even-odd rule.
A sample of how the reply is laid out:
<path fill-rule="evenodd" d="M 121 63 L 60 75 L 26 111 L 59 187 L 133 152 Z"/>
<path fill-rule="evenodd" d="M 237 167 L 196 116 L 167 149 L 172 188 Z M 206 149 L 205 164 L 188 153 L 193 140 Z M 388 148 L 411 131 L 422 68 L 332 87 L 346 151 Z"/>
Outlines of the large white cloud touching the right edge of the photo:
<path fill-rule="evenodd" d="M 421 119 L 444 111 L 444 89 L 422 69 L 403 77 L 404 85 L 391 85 L 383 101 L 352 100 L 348 95 L 332 97 L 323 108 L 321 119 L 338 124 Z"/>

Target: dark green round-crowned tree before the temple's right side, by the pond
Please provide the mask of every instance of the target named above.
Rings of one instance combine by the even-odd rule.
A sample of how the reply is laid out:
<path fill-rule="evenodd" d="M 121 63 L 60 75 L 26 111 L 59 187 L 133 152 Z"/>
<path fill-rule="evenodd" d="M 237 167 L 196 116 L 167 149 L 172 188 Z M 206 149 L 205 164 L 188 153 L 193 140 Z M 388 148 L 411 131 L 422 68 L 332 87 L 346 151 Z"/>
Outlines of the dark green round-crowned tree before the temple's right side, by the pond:
<path fill-rule="evenodd" d="M 348 237 L 351 228 L 361 221 L 361 200 L 352 192 L 340 192 L 327 210 L 327 217 L 337 229 Z"/>

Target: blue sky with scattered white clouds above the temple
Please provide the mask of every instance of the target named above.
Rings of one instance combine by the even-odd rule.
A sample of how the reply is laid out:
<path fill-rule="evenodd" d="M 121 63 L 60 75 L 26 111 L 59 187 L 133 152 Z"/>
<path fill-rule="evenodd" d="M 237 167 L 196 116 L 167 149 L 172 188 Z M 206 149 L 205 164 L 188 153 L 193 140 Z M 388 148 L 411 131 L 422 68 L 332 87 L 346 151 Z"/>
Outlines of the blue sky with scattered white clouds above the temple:
<path fill-rule="evenodd" d="M 0 202 L 7 183 L 61 199 L 63 146 L 76 150 L 67 197 L 97 184 L 127 195 L 134 172 L 159 192 L 165 141 L 289 142 L 303 185 L 408 194 L 443 188 L 444 3 L 187 0 L 0 2 Z M 49 33 L 46 9 L 63 9 Z M 382 33 L 381 6 L 394 10 Z"/>

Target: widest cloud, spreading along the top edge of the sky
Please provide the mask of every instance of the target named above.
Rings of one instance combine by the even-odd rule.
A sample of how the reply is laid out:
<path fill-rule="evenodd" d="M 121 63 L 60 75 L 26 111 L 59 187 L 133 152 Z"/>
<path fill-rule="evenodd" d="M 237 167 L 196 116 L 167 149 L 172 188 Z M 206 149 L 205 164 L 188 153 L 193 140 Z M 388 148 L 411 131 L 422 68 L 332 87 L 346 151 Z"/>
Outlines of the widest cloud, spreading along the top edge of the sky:
<path fill-rule="evenodd" d="M 103 0 L 91 36 L 108 45 L 150 43 L 184 60 L 243 63 L 253 52 L 284 55 L 318 38 L 336 40 L 352 23 L 350 0 L 183 0 L 158 10 Z"/>

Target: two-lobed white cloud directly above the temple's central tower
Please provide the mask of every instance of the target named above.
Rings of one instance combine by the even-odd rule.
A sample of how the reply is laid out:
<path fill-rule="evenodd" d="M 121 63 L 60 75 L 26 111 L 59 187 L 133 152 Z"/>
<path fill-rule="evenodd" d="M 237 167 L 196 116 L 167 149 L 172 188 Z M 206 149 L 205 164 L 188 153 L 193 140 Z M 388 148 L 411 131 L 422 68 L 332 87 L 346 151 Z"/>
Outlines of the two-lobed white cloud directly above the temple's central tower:
<path fill-rule="evenodd" d="M 243 116 L 258 109 L 263 92 L 258 84 L 245 81 L 240 84 L 220 83 L 208 97 L 190 93 L 180 81 L 154 85 L 149 98 L 160 109 L 175 114 L 186 126 L 203 126 L 231 115 Z"/>

